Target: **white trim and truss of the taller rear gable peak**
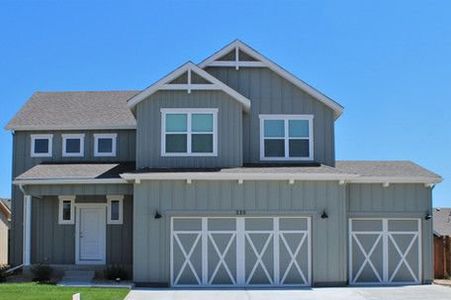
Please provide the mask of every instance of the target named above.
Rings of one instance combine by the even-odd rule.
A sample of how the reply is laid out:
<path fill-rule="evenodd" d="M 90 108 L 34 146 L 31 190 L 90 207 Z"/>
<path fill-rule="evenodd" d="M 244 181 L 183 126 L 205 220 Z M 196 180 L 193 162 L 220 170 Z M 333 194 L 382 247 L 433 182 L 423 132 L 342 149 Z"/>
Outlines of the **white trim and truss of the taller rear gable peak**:
<path fill-rule="evenodd" d="M 208 57 L 199 64 L 199 67 L 202 69 L 207 67 L 233 67 L 236 70 L 239 70 L 240 67 L 268 68 L 307 94 L 330 107 L 334 111 L 335 118 L 338 118 L 343 112 L 343 107 L 340 104 L 300 80 L 270 59 L 264 57 L 262 54 L 258 53 L 240 40 L 233 41 L 212 56 Z"/>

